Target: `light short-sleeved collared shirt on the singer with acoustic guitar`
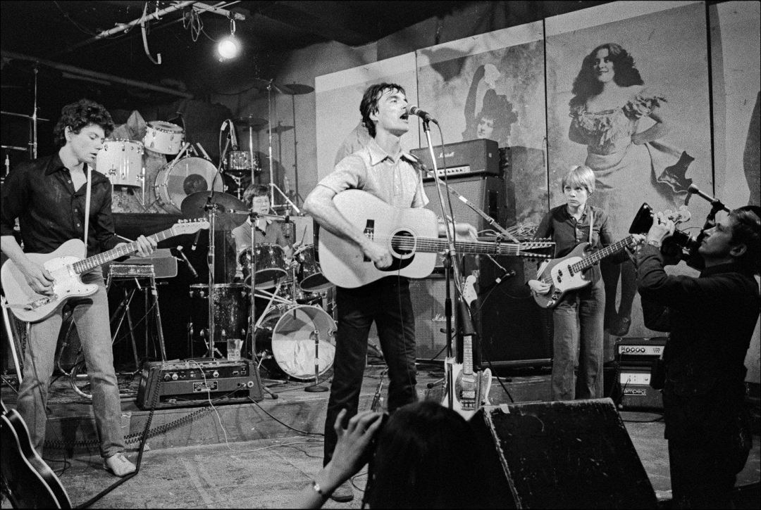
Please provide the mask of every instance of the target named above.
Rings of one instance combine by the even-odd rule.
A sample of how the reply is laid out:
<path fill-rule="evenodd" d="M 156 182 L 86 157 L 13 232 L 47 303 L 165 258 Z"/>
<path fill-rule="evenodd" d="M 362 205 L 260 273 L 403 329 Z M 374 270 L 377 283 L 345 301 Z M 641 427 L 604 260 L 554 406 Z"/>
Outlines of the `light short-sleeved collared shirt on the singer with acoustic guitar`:
<path fill-rule="evenodd" d="M 318 185 L 340 193 L 361 189 L 393 207 L 425 207 L 428 197 L 422 174 L 415 169 L 417 158 L 400 151 L 390 156 L 373 138 L 366 147 L 345 157 Z"/>

